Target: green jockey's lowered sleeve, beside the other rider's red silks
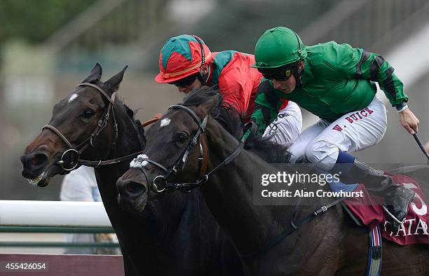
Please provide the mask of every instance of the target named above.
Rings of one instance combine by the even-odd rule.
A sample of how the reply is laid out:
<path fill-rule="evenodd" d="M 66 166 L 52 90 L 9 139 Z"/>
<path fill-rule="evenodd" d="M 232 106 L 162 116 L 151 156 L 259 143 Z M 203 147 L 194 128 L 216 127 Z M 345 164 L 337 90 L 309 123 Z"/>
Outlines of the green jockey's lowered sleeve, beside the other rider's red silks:
<path fill-rule="evenodd" d="M 275 94 L 272 83 L 263 78 L 259 84 L 254 111 L 250 118 L 257 124 L 259 135 L 264 134 L 266 127 L 277 117 L 280 106 L 280 97 Z"/>

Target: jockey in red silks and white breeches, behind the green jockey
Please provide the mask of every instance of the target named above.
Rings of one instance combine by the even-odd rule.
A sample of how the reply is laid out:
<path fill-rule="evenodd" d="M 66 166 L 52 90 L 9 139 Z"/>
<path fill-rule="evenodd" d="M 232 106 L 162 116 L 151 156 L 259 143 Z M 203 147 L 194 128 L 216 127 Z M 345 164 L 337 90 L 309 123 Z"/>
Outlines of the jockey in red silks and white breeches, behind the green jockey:
<path fill-rule="evenodd" d="M 217 87 L 224 104 L 244 115 L 247 123 L 262 78 L 257 69 L 250 67 L 254 62 L 254 55 L 235 50 L 212 53 L 198 36 L 182 34 L 165 42 L 159 57 L 161 72 L 155 81 L 176 85 L 185 94 L 203 85 Z M 273 142 L 292 142 L 301 132 L 301 110 L 285 100 L 278 117 L 267 123 L 271 127 L 265 135 L 271 135 Z"/>

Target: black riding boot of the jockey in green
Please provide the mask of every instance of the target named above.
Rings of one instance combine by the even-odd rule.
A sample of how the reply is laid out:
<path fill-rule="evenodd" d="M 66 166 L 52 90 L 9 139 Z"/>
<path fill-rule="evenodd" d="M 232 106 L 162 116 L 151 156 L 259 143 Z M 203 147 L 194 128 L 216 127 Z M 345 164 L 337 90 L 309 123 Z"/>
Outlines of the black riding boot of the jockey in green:
<path fill-rule="evenodd" d="M 353 167 L 346 175 L 340 175 L 340 180 L 348 184 L 361 183 L 368 191 L 374 195 L 383 196 L 384 203 L 397 221 L 404 222 L 407 216 L 408 206 L 414 198 L 414 191 L 405 188 L 403 185 L 393 183 L 393 180 L 379 170 L 363 163 L 355 158 Z M 394 232 L 399 228 L 400 223 L 393 220 Z"/>

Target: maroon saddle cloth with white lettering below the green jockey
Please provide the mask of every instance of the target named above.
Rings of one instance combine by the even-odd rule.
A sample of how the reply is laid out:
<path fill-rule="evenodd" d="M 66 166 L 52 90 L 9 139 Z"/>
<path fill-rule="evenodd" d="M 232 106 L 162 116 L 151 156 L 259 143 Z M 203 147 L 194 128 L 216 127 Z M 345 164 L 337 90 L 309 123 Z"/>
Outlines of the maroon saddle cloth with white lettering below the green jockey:
<path fill-rule="evenodd" d="M 386 172 L 386 174 L 388 174 Z M 429 244 L 428 235 L 428 204 L 418 182 L 404 174 L 388 174 L 395 183 L 416 192 L 414 200 L 408 208 L 405 222 L 396 233 L 393 233 L 390 225 L 391 218 L 384 212 L 383 198 L 370 195 L 362 184 L 346 185 L 341 183 L 330 183 L 332 191 L 362 191 L 363 197 L 346 198 L 344 204 L 362 221 L 367 227 L 380 226 L 381 237 L 397 244 Z"/>

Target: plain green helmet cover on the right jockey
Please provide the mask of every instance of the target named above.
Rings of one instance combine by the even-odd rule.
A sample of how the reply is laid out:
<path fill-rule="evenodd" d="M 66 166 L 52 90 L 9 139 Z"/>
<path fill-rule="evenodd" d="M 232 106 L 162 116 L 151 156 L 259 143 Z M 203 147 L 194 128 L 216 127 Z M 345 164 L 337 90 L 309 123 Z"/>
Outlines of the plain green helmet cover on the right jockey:
<path fill-rule="evenodd" d="M 254 68 L 277 68 L 304 60 L 306 46 L 298 34 L 286 27 L 268 29 L 258 39 L 254 48 Z"/>

